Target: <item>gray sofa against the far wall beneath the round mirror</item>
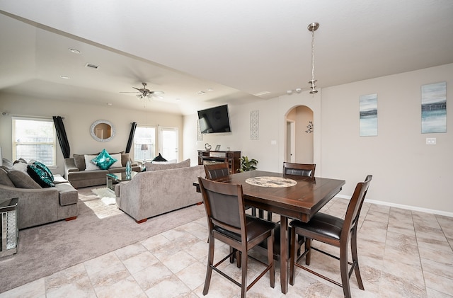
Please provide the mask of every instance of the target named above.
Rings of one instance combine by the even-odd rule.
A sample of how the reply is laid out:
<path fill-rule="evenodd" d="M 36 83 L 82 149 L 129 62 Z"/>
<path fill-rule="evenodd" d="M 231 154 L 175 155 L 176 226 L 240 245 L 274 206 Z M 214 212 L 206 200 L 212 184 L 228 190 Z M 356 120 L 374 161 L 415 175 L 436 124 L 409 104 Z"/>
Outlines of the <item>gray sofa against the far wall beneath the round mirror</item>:
<path fill-rule="evenodd" d="M 122 152 L 110 153 L 110 155 L 121 155 L 121 167 L 110 167 L 107 170 L 88 169 L 85 163 L 85 155 L 96 156 L 96 154 L 72 154 L 73 157 L 64 159 L 64 178 L 69 180 L 74 188 L 86 188 L 88 186 L 105 185 L 108 173 L 121 173 L 126 171 L 126 162 L 130 161 L 132 171 L 141 171 L 140 166 L 132 164 L 129 154 Z"/>

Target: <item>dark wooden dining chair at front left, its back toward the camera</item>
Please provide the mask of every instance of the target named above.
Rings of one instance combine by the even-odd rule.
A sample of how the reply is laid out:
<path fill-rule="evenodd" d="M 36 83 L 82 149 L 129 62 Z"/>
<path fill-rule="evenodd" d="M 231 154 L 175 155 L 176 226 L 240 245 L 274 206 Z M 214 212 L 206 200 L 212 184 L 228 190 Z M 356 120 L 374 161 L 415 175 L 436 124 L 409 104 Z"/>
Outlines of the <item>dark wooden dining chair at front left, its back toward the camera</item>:
<path fill-rule="evenodd" d="M 222 183 L 201 177 L 198 177 L 198 183 L 203 202 L 205 203 L 209 230 L 209 255 L 203 295 L 206 295 L 209 291 L 212 270 L 241 287 L 242 298 L 246 297 L 247 290 L 255 285 L 268 271 L 270 275 L 270 287 L 275 287 L 275 269 L 272 250 L 275 223 L 246 215 L 241 184 Z M 214 264 L 214 241 L 216 239 L 233 247 L 234 251 Z M 270 247 L 268 250 L 267 264 L 248 256 L 248 251 L 265 239 L 268 240 L 268 246 Z M 220 270 L 218 268 L 224 260 L 230 258 L 236 251 L 241 252 L 241 282 L 237 282 L 233 277 L 227 275 L 226 270 Z M 253 258 L 265 265 L 263 272 L 249 285 L 247 285 L 248 258 Z"/>

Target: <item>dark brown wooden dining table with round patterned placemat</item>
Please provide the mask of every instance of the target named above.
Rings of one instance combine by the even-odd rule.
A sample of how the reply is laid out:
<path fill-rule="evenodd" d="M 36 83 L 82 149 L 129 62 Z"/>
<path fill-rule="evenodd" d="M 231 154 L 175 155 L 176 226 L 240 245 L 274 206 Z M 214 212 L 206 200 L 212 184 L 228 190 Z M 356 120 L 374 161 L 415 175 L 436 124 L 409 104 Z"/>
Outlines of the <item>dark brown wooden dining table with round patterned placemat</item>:
<path fill-rule="evenodd" d="M 309 222 L 335 195 L 345 180 L 305 177 L 269 171 L 246 171 L 222 178 L 241 184 L 244 204 L 280 214 L 280 285 L 288 290 L 288 219 Z M 197 182 L 194 183 L 195 186 Z"/>

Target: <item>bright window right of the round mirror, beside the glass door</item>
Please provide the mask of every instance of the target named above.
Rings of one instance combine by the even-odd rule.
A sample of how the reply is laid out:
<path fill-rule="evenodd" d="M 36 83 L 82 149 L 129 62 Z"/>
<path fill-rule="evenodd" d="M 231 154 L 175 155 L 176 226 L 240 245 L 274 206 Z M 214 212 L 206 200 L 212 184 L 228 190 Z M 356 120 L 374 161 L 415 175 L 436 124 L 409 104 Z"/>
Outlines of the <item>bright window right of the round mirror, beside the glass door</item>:
<path fill-rule="evenodd" d="M 147 145 L 148 149 L 142 147 Z M 142 150 L 144 148 L 144 150 Z M 135 161 L 151 161 L 156 156 L 156 127 L 139 126 L 135 128 L 134 134 L 134 159 Z"/>

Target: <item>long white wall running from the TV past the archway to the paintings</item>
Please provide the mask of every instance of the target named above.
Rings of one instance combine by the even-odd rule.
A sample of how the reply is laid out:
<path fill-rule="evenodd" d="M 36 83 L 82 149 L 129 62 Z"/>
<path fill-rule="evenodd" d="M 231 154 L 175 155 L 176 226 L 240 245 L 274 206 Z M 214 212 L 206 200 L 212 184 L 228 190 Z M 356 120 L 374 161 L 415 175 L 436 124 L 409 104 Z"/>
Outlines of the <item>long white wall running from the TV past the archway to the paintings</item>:
<path fill-rule="evenodd" d="M 453 216 L 448 187 L 453 181 L 453 104 L 447 103 L 447 133 L 421 134 L 420 87 L 439 81 L 447 81 L 449 102 L 453 64 L 324 88 L 314 96 L 305 92 L 259 105 L 229 105 L 232 133 L 205 134 L 197 149 L 206 142 L 221 144 L 258 159 L 259 170 L 282 171 L 285 115 L 306 105 L 314 111 L 316 176 L 345 180 L 340 196 L 350 197 L 357 182 L 372 174 L 367 200 Z M 359 96 L 371 93 L 378 96 L 378 136 L 360 137 Z M 260 113 L 256 141 L 250 140 L 251 110 Z M 436 137 L 437 145 L 426 145 L 427 137 Z"/>

